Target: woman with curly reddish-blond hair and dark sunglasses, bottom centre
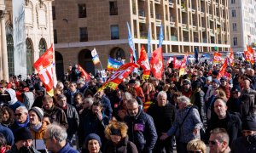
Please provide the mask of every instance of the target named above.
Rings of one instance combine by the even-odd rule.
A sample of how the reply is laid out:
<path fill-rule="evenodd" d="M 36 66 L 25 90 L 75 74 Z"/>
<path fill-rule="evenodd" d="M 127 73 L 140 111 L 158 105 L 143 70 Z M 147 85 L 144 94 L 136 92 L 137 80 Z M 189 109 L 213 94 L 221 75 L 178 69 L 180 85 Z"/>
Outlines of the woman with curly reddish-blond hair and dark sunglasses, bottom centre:
<path fill-rule="evenodd" d="M 104 147 L 104 153 L 137 153 L 137 147 L 128 140 L 128 127 L 124 122 L 112 121 L 105 128 L 105 135 L 108 139 Z"/>

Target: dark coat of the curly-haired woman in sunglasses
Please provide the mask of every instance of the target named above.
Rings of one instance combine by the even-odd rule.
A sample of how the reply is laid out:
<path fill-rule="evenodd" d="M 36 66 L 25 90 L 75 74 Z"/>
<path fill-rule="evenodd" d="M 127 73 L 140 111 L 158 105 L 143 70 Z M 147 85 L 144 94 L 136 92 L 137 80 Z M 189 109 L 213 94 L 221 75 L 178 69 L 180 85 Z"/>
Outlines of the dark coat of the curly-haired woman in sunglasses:
<path fill-rule="evenodd" d="M 137 147 L 131 141 L 128 140 L 128 137 L 121 139 L 119 144 L 113 144 L 112 140 L 108 140 L 104 153 L 137 153 Z"/>

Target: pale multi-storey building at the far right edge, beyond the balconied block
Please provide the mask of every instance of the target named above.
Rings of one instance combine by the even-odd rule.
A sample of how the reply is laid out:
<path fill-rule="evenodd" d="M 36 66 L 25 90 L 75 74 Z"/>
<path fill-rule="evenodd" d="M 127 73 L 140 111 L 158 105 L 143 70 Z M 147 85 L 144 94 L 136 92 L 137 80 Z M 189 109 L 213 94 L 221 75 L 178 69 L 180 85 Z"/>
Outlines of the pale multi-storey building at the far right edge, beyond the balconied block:
<path fill-rule="evenodd" d="M 230 45 L 234 51 L 243 52 L 247 45 L 256 44 L 255 0 L 230 0 Z"/>

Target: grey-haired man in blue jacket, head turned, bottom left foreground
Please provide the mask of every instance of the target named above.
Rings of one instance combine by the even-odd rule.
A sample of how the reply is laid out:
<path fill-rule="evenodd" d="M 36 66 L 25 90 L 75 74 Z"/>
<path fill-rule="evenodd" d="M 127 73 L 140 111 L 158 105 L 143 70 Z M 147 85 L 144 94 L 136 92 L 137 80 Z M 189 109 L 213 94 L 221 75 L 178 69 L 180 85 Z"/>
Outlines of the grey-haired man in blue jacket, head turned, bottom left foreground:
<path fill-rule="evenodd" d="M 74 150 L 67 142 L 67 130 L 57 123 L 46 127 L 44 133 L 44 144 L 49 152 L 52 153 L 79 153 Z"/>

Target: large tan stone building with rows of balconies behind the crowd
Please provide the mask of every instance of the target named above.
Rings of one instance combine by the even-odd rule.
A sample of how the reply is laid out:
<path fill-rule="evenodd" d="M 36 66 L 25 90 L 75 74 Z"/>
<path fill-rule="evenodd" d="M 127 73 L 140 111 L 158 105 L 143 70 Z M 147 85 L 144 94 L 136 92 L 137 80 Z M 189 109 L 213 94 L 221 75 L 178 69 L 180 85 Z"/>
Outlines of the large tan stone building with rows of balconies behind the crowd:
<path fill-rule="evenodd" d="M 129 62 L 128 31 L 131 26 L 135 48 L 147 48 L 150 28 L 151 50 L 158 46 L 163 26 L 163 53 L 230 50 L 228 0 L 55 0 L 53 3 L 56 63 L 79 64 L 95 72 L 90 51 L 96 48 L 102 67 L 108 56 Z M 138 54 L 137 54 L 138 56 Z M 57 60 L 58 59 L 58 60 Z"/>

